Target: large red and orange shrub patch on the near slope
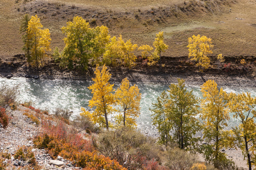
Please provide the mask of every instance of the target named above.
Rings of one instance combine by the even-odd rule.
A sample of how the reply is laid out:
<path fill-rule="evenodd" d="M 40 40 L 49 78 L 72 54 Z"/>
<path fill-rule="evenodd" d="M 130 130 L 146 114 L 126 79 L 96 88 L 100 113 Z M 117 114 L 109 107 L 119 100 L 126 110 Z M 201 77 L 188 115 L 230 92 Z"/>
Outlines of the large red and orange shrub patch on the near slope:
<path fill-rule="evenodd" d="M 56 126 L 43 121 L 42 128 L 44 133 L 34 139 L 34 144 L 36 147 L 48 149 L 53 159 L 60 155 L 79 167 L 86 167 L 85 169 L 125 169 L 115 160 L 98 156 L 90 142 L 80 134 L 68 130 L 62 121 Z"/>

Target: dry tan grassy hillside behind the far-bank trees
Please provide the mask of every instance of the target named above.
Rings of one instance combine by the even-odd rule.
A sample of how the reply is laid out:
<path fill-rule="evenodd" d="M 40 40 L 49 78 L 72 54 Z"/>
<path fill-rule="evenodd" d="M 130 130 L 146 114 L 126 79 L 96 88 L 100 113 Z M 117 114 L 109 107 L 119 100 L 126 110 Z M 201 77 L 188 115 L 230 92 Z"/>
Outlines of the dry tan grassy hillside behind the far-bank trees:
<path fill-rule="evenodd" d="M 37 14 L 49 28 L 52 49 L 64 47 L 60 28 L 78 15 L 92 27 L 106 25 L 112 36 L 121 34 L 139 45 L 151 45 L 155 33 L 164 31 L 166 44 L 170 45 L 165 56 L 187 56 L 187 39 L 197 34 L 212 38 L 213 55 L 255 56 L 253 0 L 2 0 L 0 8 L 2 59 L 23 53 L 19 23 L 26 13 Z"/>

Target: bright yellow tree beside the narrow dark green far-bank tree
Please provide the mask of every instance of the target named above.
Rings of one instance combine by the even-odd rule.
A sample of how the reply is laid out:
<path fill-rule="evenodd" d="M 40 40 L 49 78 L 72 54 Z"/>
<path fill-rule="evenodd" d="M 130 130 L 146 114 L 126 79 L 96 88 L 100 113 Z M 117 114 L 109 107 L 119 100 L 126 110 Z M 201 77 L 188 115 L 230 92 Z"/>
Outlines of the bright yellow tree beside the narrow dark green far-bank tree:
<path fill-rule="evenodd" d="M 32 65 L 37 68 L 41 65 L 44 58 L 47 57 L 46 52 L 50 51 L 50 33 L 49 29 L 42 29 L 43 25 L 40 22 L 40 18 L 37 15 L 31 16 L 27 27 L 27 42 L 31 49 L 31 61 Z"/>

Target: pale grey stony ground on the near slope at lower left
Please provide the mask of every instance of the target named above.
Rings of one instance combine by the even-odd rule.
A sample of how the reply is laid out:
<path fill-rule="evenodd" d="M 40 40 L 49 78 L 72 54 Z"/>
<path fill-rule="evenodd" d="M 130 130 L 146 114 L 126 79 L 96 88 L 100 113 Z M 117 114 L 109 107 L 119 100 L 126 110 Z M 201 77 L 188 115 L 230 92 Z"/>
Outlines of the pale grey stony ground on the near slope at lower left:
<path fill-rule="evenodd" d="M 6 129 L 0 128 L 0 151 L 11 154 L 11 159 L 6 159 L 5 163 L 9 164 L 7 169 L 19 169 L 27 165 L 26 162 L 14 159 L 14 153 L 20 146 L 33 147 L 32 138 L 39 134 L 40 127 L 32 122 L 30 118 L 23 115 L 28 108 L 19 105 L 16 111 L 7 110 L 11 117 L 10 124 Z M 30 109 L 29 109 L 30 110 Z M 33 112 L 30 110 L 30 112 Z M 80 169 L 74 167 L 72 162 L 58 156 L 53 160 L 44 149 L 33 148 L 36 162 L 40 169 Z"/>

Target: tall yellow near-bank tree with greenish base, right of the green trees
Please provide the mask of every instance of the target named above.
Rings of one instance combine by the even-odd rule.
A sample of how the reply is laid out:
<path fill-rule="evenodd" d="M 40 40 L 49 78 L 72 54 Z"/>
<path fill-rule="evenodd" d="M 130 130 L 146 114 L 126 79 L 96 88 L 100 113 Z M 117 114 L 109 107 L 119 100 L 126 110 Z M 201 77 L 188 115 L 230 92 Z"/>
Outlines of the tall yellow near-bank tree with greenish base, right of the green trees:
<path fill-rule="evenodd" d="M 229 120 L 228 94 L 217 87 L 214 80 L 207 80 L 201 86 L 204 99 L 201 101 L 201 118 L 204 125 L 204 139 L 208 143 L 205 147 L 205 159 L 219 168 L 222 163 L 228 162 L 222 148 L 228 146 L 229 131 L 224 130 Z"/>

